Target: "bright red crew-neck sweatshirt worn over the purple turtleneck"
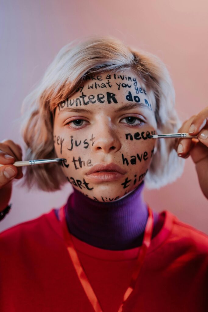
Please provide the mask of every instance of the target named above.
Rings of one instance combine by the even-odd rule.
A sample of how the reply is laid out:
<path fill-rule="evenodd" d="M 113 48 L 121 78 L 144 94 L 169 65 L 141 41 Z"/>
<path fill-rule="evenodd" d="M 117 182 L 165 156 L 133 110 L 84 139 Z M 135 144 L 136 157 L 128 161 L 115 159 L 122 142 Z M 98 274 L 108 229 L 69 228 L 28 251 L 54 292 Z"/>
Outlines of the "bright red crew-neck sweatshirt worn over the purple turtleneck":
<path fill-rule="evenodd" d="M 168 211 L 160 217 L 123 311 L 208 311 L 208 236 Z M 71 237 L 103 311 L 117 312 L 140 247 L 105 250 Z M 0 311 L 94 312 L 53 209 L 0 234 Z"/>

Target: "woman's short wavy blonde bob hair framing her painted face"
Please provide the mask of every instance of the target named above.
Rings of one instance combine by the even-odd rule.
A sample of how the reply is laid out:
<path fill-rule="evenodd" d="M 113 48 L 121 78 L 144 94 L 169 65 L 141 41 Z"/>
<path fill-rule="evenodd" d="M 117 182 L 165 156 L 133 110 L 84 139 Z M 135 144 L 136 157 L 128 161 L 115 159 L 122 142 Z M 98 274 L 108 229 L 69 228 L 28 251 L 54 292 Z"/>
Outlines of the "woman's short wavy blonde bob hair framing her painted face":
<path fill-rule="evenodd" d="M 25 160 L 57 158 L 53 139 L 56 106 L 71 97 L 86 75 L 132 69 L 147 90 L 152 91 L 157 133 L 175 133 L 181 126 L 175 106 L 175 90 L 164 63 L 155 55 L 130 48 L 111 36 L 93 36 L 64 46 L 22 104 L 21 135 L 26 144 Z M 175 139 L 158 139 L 157 152 L 145 175 L 149 189 L 160 188 L 181 176 L 184 159 L 174 149 Z M 43 191 L 60 190 L 68 183 L 57 163 L 27 166 L 22 186 Z"/>

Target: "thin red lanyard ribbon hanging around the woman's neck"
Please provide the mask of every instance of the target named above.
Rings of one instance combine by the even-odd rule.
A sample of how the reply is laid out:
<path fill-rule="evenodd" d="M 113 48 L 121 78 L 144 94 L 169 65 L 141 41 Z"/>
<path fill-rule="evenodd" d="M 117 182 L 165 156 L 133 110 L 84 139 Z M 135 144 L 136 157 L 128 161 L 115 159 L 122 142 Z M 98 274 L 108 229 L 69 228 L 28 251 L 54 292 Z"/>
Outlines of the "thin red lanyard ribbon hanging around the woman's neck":
<path fill-rule="evenodd" d="M 62 206 L 59 210 L 59 218 L 60 218 L 60 222 L 61 222 L 61 227 L 63 229 L 64 239 L 65 239 L 65 243 L 67 246 L 67 250 L 68 250 L 69 255 L 71 257 L 72 263 L 75 267 L 75 271 L 76 271 L 76 273 L 80 279 L 80 283 L 82 284 L 82 286 L 85 290 L 85 293 L 86 293 L 89 301 L 91 302 L 95 312 L 103 312 L 103 310 L 101 309 L 101 306 L 99 304 L 99 301 L 98 301 L 98 299 L 94 293 L 94 290 L 92 289 L 92 286 L 89 283 L 88 277 L 85 274 L 85 271 L 84 271 L 84 269 L 80 263 L 77 252 L 75 250 L 75 246 L 73 244 L 70 232 L 69 232 L 67 224 L 66 224 L 64 207 L 65 206 Z M 152 231 L 153 231 L 153 214 L 152 214 L 152 210 L 150 209 L 150 207 L 148 207 L 148 220 L 147 220 L 147 224 L 146 224 L 145 231 L 144 231 L 142 246 L 140 247 L 140 251 L 138 253 L 138 258 L 137 258 L 136 266 L 133 270 L 130 285 L 128 286 L 125 294 L 123 295 L 123 302 L 121 303 L 118 312 L 122 312 L 123 304 L 128 299 L 128 297 L 130 296 L 130 294 L 132 293 L 132 291 L 135 287 L 136 280 L 138 278 L 140 269 L 143 265 L 147 249 L 148 249 L 150 242 L 151 242 Z"/>

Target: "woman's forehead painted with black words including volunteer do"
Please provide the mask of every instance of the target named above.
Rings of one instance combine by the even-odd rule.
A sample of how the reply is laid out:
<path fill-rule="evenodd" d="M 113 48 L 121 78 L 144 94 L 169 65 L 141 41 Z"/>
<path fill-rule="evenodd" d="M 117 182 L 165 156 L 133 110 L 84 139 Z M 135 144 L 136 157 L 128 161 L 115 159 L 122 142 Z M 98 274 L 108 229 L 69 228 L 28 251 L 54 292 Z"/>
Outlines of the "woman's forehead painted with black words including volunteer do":
<path fill-rule="evenodd" d="M 109 105 L 111 104 L 111 105 Z M 121 105 L 133 104 L 154 111 L 154 95 L 132 70 L 93 73 L 66 100 L 58 103 L 57 111 L 83 109 L 114 110 Z"/>

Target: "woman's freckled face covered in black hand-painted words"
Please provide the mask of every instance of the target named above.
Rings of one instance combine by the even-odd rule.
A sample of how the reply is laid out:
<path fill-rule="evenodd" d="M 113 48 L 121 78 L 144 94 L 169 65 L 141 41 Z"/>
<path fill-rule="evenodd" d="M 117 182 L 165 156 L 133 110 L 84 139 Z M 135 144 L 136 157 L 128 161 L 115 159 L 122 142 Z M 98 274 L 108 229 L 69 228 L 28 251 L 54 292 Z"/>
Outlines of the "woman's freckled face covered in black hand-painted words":
<path fill-rule="evenodd" d="M 117 200 L 144 179 L 156 145 L 150 92 L 132 70 L 104 72 L 87 76 L 56 107 L 57 157 L 66 159 L 67 180 L 87 197 Z"/>

